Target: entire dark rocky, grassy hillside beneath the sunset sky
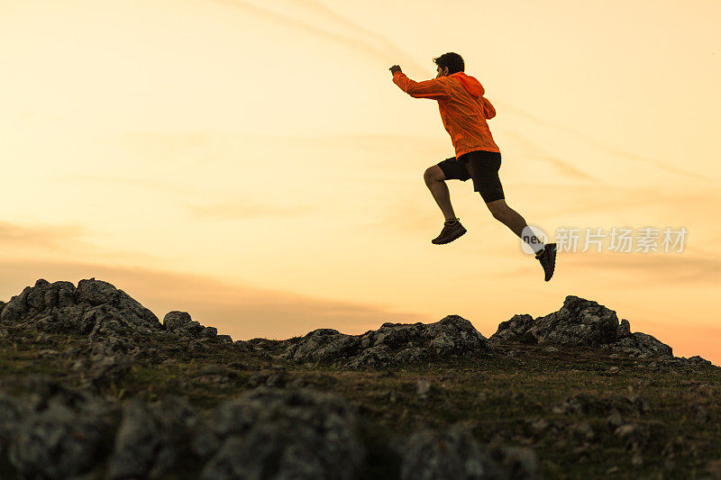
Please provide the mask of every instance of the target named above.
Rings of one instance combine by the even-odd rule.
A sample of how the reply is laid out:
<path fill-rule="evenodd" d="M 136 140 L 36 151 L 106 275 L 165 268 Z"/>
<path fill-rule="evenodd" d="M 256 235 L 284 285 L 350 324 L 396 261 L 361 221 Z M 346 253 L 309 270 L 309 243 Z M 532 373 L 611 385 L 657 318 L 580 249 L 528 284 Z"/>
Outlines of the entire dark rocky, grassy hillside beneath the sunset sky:
<path fill-rule="evenodd" d="M 0 478 L 713 475 L 718 372 L 571 295 L 489 339 L 448 315 L 233 341 L 41 279 L 0 302 Z"/>

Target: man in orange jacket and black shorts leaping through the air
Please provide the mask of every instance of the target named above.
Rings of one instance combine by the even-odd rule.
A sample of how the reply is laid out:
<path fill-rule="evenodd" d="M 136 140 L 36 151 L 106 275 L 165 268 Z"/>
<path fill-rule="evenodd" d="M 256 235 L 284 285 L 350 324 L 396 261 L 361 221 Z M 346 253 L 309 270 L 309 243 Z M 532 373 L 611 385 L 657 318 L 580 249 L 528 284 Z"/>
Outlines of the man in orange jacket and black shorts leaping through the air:
<path fill-rule="evenodd" d="M 483 96 L 479 81 L 463 73 L 463 59 L 458 53 L 444 53 L 434 59 L 438 75 L 432 80 L 415 82 L 394 65 L 390 68 L 393 82 L 414 98 L 431 98 L 438 102 L 441 120 L 451 135 L 456 155 L 446 158 L 425 170 L 425 185 L 434 195 L 445 217 L 443 230 L 434 240 L 436 245 L 450 243 L 466 229 L 453 213 L 451 195 L 445 180 L 473 179 L 473 190 L 479 192 L 493 217 L 505 224 L 534 250 L 541 262 L 545 281 L 553 276 L 556 263 L 556 244 L 543 245 L 528 228 L 524 217 L 506 204 L 503 187 L 498 178 L 501 154 L 488 129 L 488 122 L 496 116 L 496 109 Z"/>

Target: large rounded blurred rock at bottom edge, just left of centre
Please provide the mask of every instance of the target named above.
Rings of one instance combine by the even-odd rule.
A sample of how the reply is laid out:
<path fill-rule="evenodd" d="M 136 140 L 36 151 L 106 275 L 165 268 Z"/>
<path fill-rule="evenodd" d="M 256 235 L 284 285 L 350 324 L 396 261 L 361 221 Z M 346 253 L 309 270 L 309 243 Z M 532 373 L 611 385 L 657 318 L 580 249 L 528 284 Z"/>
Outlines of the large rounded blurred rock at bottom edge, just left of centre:
<path fill-rule="evenodd" d="M 365 460 L 356 409 L 339 396 L 259 387 L 221 404 L 195 441 L 203 478 L 351 479 Z"/>

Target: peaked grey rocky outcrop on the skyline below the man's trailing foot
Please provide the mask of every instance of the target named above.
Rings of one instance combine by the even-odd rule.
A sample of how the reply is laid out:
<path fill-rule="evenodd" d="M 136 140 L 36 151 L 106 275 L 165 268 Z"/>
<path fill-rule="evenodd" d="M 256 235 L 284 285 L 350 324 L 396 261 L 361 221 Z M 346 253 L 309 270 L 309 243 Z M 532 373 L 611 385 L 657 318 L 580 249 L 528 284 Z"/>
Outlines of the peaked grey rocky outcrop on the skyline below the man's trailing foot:
<path fill-rule="evenodd" d="M 651 335 L 631 333 L 629 322 L 618 322 L 613 310 L 572 295 L 566 297 L 558 312 L 535 320 L 528 314 L 514 315 L 501 322 L 490 341 L 604 347 L 639 357 L 673 357 L 671 347 Z"/>

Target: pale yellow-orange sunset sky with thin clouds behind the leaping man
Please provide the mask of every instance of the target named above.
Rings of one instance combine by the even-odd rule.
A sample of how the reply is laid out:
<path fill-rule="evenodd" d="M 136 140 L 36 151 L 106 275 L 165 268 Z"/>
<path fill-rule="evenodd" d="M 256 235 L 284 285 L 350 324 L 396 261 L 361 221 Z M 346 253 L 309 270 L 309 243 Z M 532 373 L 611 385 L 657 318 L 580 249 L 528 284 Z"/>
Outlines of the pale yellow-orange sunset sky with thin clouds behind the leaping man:
<path fill-rule="evenodd" d="M 573 294 L 721 365 L 721 3 L 8 0 L 0 299 L 96 277 L 234 340 L 457 313 L 487 337 Z M 680 253 L 523 253 L 423 172 L 436 103 L 391 82 L 461 53 L 496 106 L 507 203 L 559 228 L 689 231 Z M 583 237 L 581 237 L 582 243 Z"/>

